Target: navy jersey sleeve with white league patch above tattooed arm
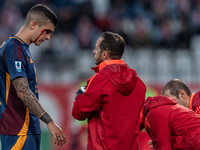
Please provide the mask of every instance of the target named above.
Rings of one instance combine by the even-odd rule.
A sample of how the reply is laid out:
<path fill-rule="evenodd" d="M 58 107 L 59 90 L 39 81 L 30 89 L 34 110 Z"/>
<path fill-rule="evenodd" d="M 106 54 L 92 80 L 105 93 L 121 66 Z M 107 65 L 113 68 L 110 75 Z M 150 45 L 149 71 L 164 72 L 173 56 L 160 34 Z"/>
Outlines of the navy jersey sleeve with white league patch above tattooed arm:
<path fill-rule="evenodd" d="M 17 77 L 27 78 L 25 71 L 26 56 L 19 44 L 13 43 L 6 46 L 5 63 L 11 80 Z"/>

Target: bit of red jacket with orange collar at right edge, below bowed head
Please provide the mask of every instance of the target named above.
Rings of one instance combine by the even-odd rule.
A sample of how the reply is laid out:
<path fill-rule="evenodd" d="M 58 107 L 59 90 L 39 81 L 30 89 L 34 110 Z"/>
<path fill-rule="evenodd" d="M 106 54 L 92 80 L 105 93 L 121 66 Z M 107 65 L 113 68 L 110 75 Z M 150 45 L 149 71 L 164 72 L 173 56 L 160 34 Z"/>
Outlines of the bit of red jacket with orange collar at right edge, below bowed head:
<path fill-rule="evenodd" d="M 190 97 L 190 106 L 189 109 L 195 111 L 200 115 L 200 91 L 196 94 L 192 93 Z"/>

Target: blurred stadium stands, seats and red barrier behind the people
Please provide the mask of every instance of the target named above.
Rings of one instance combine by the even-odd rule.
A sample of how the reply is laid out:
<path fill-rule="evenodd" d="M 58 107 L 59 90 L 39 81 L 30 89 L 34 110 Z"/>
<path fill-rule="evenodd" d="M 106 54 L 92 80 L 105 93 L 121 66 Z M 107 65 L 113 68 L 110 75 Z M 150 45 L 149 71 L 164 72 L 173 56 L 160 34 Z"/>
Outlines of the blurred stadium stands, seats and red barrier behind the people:
<path fill-rule="evenodd" d="M 0 43 L 16 34 L 35 4 L 49 6 L 59 24 L 50 41 L 30 46 L 35 59 L 42 106 L 61 126 L 68 143 L 53 146 L 41 122 L 41 150 L 84 150 L 86 122 L 75 121 L 71 109 L 75 92 L 93 75 L 93 48 L 103 31 L 125 38 L 125 62 L 148 87 L 146 96 L 160 94 L 172 78 L 185 81 L 192 92 L 200 86 L 199 0 L 1 0 Z M 148 150 L 148 136 L 140 136 Z"/>

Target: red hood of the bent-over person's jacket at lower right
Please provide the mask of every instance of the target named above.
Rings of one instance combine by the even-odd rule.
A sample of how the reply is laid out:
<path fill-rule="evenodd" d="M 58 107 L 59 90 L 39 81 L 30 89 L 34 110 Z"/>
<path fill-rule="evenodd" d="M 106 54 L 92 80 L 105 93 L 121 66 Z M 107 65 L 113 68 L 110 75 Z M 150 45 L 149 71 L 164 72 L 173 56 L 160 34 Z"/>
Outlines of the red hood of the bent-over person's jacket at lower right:
<path fill-rule="evenodd" d="M 177 102 L 172 97 L 168 96 L 154 96 L 148 97 L 144 102 L 143 114 L 144 117 L 147 115 L 150 109 L 160 105 L 176 105 Z"/>

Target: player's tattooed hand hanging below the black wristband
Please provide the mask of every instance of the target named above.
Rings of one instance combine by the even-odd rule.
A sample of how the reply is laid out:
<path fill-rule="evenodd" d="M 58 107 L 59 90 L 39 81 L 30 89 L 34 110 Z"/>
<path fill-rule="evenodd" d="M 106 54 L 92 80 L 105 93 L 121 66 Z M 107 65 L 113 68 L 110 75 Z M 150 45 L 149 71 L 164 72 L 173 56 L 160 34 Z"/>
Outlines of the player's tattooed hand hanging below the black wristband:
<path fill-rule="evenodd" d="M 47 127 L 54 137 L 54 144 L 63 147 L 66 144 L 66 136 L 63 130 L 53 120 L 47 124 Z"/>

